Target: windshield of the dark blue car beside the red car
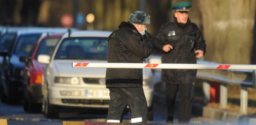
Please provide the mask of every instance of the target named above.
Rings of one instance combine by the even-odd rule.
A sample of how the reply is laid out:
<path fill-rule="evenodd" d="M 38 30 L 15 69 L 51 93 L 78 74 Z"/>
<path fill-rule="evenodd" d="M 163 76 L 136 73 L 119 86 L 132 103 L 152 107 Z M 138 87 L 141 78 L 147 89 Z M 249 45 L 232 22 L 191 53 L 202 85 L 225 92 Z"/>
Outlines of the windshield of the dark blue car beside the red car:
<path fill-rule="evenodd" d="M 14 54 L 28 56 L 32 46 L 36 43 L 40 35 L 23 35 L 17 41 L 16 48 L 14 48 Z"/>

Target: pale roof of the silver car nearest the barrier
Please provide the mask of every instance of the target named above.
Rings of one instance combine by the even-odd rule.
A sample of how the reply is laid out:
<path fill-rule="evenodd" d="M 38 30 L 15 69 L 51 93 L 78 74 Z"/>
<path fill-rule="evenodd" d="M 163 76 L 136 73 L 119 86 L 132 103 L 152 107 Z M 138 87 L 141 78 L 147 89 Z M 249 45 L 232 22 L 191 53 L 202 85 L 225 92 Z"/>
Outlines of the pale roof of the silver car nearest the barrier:
<path fill-rule="evenodd" d="M 72 31 L 70 37 L 108 37 L 111 31 L 103 30 L 80 30 Z M 65 33 L 64 37 L 69 37 L 69 33 Z"/>

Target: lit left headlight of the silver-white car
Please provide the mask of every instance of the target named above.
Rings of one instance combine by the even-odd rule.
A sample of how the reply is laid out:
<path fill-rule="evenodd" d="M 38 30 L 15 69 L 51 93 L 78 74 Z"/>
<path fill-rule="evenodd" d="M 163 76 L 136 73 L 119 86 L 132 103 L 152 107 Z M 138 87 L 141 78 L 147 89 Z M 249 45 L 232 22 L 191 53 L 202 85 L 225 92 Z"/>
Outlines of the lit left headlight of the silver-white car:
<path fill-rule="evenodd" d="M 80 84 L 78 77 L 54 77 L 56 84 Z"/>

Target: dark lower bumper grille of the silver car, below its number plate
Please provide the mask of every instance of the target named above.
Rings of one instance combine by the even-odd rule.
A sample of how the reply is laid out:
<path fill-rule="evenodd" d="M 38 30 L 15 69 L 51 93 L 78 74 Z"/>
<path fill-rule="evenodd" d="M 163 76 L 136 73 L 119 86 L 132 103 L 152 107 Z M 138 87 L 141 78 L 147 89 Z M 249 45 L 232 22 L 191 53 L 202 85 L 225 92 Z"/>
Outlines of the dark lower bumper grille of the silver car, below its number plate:
<path fill-rule="evenodd" d="M 108 105 L 110 100 L 78 100 L 78 99 L 62 99 L 62 103 L 68 104 L 84 104 L 84 105 Z"/>

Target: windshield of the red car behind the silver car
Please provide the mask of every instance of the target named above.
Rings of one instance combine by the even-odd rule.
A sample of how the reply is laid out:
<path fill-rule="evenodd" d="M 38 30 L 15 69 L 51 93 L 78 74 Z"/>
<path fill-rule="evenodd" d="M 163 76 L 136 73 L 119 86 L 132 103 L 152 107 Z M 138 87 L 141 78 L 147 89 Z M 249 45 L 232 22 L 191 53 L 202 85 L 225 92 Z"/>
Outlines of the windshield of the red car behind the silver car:
<path fill-rule="evenodd" d="M 59 40 L 59 38 L 44 38 L 40 42 L 40 45 L 39 45 L 38 50 L 36 52 L 35 59 L 37 59 L 39 54 L 47 54 L 47 55 L 51 56 L 58 40 Z"/>

